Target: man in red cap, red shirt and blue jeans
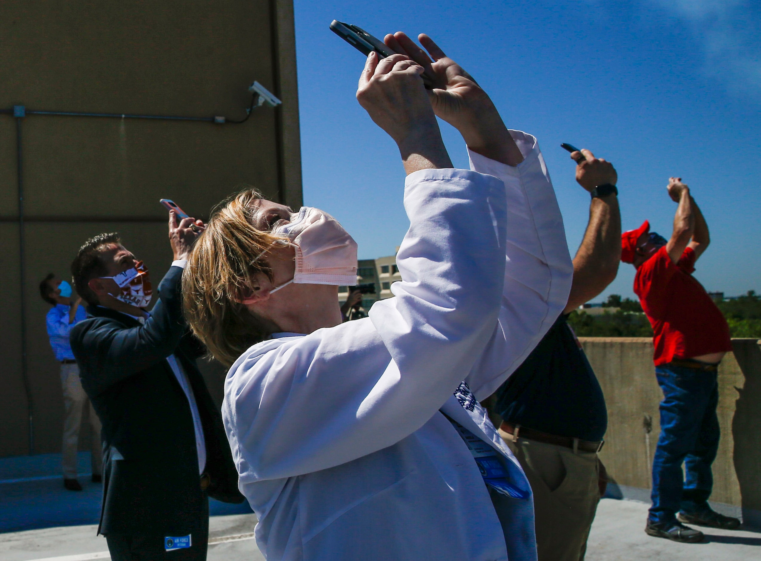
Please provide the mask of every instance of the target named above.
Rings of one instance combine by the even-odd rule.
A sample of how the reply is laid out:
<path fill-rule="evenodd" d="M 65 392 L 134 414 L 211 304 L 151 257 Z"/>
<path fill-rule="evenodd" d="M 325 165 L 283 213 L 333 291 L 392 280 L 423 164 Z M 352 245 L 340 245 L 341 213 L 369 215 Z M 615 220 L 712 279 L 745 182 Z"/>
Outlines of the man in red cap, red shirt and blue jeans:
<path fill-rule="evenodd" d="M 667 190 L 679 203 L 671 239 L 651 232 L 645 221 L 621 235 L 621 260 L 637 269 L 634 292 L 653 327 L 655 374 L 664 392 L 645 532 L 697 542 L 702 532 L 682 522 L 740 525 L 708 506 L 719 440 L 716 373 L 732 346 L 727 321 L 692 275 L 710 241 L 708 225 L 681 177 L 671 177 Z"/>

